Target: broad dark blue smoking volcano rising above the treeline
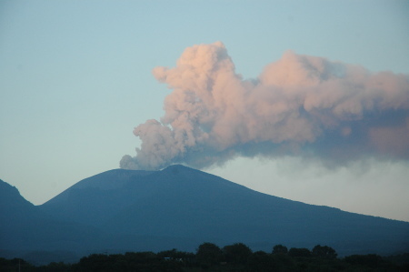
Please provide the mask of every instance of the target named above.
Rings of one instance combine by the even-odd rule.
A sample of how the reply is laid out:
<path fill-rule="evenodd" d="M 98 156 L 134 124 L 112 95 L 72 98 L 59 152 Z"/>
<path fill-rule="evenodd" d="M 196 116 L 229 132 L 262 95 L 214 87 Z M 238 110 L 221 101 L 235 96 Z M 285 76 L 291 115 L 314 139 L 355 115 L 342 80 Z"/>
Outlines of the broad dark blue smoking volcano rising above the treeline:
<path fill-rule="evenodd" d="M 53 230 L 53 241 L 40 243 L 41 236 L 35 236 L 37 249 L 42 250 L 59 244 L 62 250 L 95 252 L 174 247 L 195 251 L 203 242 L 220 246 L 243 242 L 268 252 L 277 244 L 308 248 L 321 244 L 334 247 L 340 256 L 409 252 L 407 222 L 265 195 L 186 166 L 107 171 L 85 178 L 39 207 L 26 202 L 15 188 L 3 185 L 0 190 L 14 198 L 1 202 L 1 219 L 13 218 L 20 233 L 32 238 L 35 226 L 62 227 Z M 13 204 L 14 210 L 3 215 L 11 203 L 20 202 L 25 204 Z M 15 216 L 21 214 L 28 218 L 26 227 Z M 15 237 L 13 227 L 2 227 L 2 238 L 9 232 Z M 75 240 L 81 237 L 84 241 Z M 23 246 L 10 243 L 1 243 L 0 249 Z"/>

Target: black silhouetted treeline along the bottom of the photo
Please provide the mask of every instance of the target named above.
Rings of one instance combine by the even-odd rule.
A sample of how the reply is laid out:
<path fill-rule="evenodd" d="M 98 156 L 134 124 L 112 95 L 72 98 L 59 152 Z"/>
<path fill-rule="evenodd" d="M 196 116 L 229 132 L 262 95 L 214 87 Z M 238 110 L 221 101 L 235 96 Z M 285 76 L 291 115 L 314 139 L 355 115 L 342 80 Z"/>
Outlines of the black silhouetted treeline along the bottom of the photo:
<path fill-rule="evenodd" d="M 50 263 L 35 267 L 23 259 L 0 257 L 0 271 L 409 271 L 409 253 L 393 257 L 374 254 L 338 258 L 332 247 L 308 248 L 276 245 L 272 252 L 253 252 L 236 243 L 217 247 L 200 245 L 196 253 L 176 249 L 125 254 L 93 254 L 78 263 Z"/>

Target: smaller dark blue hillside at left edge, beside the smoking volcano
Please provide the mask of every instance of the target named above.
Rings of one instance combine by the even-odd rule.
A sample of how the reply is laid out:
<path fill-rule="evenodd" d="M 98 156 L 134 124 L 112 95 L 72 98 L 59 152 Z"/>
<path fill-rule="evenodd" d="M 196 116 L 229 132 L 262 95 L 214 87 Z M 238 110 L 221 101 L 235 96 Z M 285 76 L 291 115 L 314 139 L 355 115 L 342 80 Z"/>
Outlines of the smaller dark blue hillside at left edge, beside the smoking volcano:
<path fill-rule="evenodd" d="M 98 236 L 95 227 L 56 220 L 0 180 L 0 249 L 73 250 Z"/>

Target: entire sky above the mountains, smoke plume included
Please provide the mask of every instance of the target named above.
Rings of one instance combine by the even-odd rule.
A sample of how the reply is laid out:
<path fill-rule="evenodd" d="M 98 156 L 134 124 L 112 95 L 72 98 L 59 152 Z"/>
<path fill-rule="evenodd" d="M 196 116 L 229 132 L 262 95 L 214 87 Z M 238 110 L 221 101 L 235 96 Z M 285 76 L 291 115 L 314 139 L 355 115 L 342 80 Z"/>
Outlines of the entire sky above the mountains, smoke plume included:
<path fill-rule="evenodd" d="M 183 163 L 409 221 L 408 15 L 407 1 L 2 1 L 0 178 L 40 205 L 120 161 Z"/>

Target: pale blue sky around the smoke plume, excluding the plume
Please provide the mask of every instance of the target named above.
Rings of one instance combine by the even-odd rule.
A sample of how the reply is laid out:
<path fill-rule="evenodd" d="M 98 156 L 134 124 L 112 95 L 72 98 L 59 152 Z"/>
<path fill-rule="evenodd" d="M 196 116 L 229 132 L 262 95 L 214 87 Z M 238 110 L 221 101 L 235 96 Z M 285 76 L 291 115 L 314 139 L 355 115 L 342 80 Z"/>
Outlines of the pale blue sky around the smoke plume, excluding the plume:
<path fill-rule="evenodd" d="M 254 3 L 255 2 L 255 3 Z M 117 168 L 164 116 L 152 75 L 186 47 L 222 41 L 254 78 L 287 50 L 409 74 L 407 1 L 2 1 L 0 178 L 42 204 Z M 409 221 L 407 161 L 325 168 L 237 158 L 208 172 L 274 196 Z"/>

